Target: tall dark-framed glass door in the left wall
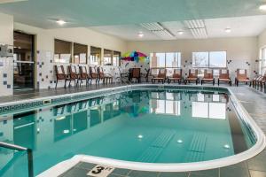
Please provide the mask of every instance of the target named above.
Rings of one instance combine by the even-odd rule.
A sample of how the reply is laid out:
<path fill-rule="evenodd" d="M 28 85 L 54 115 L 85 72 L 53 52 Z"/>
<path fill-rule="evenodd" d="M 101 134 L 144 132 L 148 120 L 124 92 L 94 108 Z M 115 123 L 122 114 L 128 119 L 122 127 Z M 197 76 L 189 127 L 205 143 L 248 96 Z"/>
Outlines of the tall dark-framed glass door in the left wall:
<path fill-rule="evenodd" d="M 34 89 L 34 35 L 14 32 L 14 89 Z"/>

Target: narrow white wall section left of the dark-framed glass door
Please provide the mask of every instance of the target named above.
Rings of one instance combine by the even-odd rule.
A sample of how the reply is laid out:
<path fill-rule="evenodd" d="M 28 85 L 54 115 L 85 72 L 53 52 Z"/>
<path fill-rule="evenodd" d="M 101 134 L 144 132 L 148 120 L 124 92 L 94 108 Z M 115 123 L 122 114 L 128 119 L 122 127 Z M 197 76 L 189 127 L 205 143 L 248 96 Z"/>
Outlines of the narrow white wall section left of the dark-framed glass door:
<path fill-rule="evenodd" d="M 13 17 L 0 13 L 0 43 L 13 45 Z M 13 58 L 0 57 L 0 96 L 13 93 Z"/>

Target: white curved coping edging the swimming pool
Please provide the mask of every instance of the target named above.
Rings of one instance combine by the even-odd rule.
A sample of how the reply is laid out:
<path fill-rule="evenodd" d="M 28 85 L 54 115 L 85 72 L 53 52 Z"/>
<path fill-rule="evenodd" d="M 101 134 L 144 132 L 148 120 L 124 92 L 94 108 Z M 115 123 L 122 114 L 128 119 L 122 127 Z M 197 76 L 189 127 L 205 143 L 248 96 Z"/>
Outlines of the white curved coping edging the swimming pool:
<path fill-rule="evenodd" d="M 84 91 L 80 93 L 71 93 L 71 94 L 65 94 L 61 96 L 46 96 L 46 97 L 39 97 L 39 98 L 33 98 L 28 100 L 21 100 L 20 102 L 33 102 L 35 100 L 42 100 L 47 99 L 47 97 L 55 98 L 55 97 L 64 97 L 64 96 L 76 96 L 76 95 L 82 95 L 84 93 L 95 93 L 98 91 L 104 91 L 104 90 L 113 90 L 113 89 L 132 89 L 132 87 L 145 87 L 145 86 L 176 86 L 174 84 L 168 84 L 168 85 L 161 85 L 161 84 L 137 84 L 137 85 L 129 85 L 129 86 L 118 86 L 114 88 L 107 88 L 107 89 L 98 89 L 98 90 L 89 90 Z M 187 85 L 182 87 L 187 87 L 188 89 L 191 87 L 204 87 L 204 86 L 195 86 L 195 85 Z M 88 162 L 93 164 L 101 164 L 101 165 L 109 165 L 116 168 L 126 168 L 131 170 L 137 170 L 137 171 L 151 171 L 151 172 L 188 172 L 188 171 L 198 171 L 198 170 L 208 170 L 208 169 L 214 169 L 218 167 L 223 167 L 227 165 L 234 165 L 238 164 L 239 162 L 245 161 L 249 158 L 253 158 L 257 154 L 259 154 L 262 150 L 264 150 L 266 146 L 266 138 L 264 133 L 262 132 L 261 128 L 257 126 L 254 119 L 249 115 L 248 112 L 246 112 L 246 109 L 243 107 L 242 104 L 239 103 L 239 99 L 234 95 L 234 93 L 231 91 L 230 88 L 226 87 L 212 87 L 207 86 L 207 88 L 220 88 L 220 89 L 226 89 L 231 95 L 231 101 L 234 105 L 237 113 L 241 113 L 241 116 L 244 116 L 247 123 L 252 127 L 254 130 L 254 133 L 257 137 L 257 142 L 254 144 L 253 147 L 251 147 L 249 150 L 246 150 L 244 152 L 241 152 L 237 155 L 233 155 L 227 158 L 218 158 L 215 160 L 209 160 L 209 161 L 202 161 L 202 162 L 192 162 L 192 163 L 141 163 L 141 162 L 129 162 L 129 161 L 123 161 L 123 160 L 115 160 L 112 158 L 99 158 L 99 157 L 93 157 L 88 155 L 75 155 L 73 158 L 67 159 L 66 161 L 62 161 L 57 165 L 51 166 L 51 168 L 47 169 L 43 173 L 38 174 L 38 177 L 44 177 L 44 176 L 58 176 L 62 173 L 65 173 L 67 170 L 71 169 L 74 165 L 78 164 L 79 162 Z M 12 102 L 15 104 L 18 104 L 18 102 Z M 12 104 L 9 103 L 9 104 Z M 0 104 L 1 106 L 1 104 Z M 240 116 L 240 115 L 239 115 Z"/>

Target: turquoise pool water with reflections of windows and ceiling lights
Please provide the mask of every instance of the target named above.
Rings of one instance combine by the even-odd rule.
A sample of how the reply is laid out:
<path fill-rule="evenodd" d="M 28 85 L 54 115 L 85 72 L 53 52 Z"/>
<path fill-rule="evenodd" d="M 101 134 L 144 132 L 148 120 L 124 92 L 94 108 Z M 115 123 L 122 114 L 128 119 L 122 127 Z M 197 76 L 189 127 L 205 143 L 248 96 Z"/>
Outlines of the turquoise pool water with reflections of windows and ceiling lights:
<path fill-rule="evenodd" d="M 35 175 L 77 154 L 188 163 L 229 157 L 255 142 L 223 92 L 135 90 L 0 119 L 1 141 L 34 150 Z M 0 149 L 0 166 L 2 176 L 27 176 L 27 155 Z"/>

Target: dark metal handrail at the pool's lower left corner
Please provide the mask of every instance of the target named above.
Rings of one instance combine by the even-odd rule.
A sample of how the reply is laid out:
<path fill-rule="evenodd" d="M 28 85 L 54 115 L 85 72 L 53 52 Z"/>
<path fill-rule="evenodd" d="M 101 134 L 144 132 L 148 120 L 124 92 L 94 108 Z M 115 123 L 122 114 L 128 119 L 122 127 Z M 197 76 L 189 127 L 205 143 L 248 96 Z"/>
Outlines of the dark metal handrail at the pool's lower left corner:
<path fill-rule="evenodd" d="M 0 142 L 0 147 L 10 149 L 10 150 L 19 150 L 19 151 L 27 151 L 27 170 L 28 177 L 34 177 L 34 168 L 33 168 L 33 153 L 31 149 L 27 149 L 22 146 L 18 146 L 15 144 Z"/>

